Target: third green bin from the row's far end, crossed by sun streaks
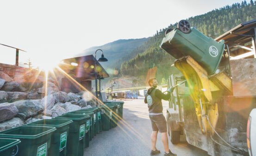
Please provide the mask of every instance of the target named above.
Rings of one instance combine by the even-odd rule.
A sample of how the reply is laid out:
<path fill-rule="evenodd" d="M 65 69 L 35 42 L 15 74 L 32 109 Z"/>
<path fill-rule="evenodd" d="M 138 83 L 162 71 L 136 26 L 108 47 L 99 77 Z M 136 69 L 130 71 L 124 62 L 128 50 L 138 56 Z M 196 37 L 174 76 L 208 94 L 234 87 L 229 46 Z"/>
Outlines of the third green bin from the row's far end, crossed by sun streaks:
<path fill-rule="evenodd" d="M 103 105 L 101 107 L 102 109 L 102 130 L 103 131 L 108 131 L 109 129 L 112 128 L 111 124 L 112 124 L 112 108 L 113 106 L 106 106 Z"/>

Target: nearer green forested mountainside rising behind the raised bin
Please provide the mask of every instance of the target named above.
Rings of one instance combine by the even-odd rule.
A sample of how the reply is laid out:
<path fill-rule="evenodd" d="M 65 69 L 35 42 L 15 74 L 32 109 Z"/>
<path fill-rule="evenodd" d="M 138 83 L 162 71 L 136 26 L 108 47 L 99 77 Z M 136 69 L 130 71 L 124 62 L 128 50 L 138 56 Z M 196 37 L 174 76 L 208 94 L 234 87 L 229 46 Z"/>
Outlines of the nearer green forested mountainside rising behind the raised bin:
<path fill-rule="evenodd" d="M 187 20 L 191 26 L 206 36 L 216 38 L 238 24 L 252 19 L 256 19 L 256 1 L 251 0 L 249 4 L 242 1 L 242 3 L 215 9 Z M 156 31 L 156 34 L 147 42 L 134 49 L 133 54 L 137 53 L 137 55 L 131 60 L 123 62 L 120 76 L 135 76 L 143 80 L 146 78 L 148 70 L 156 66 L 156 78 L 161 82 L 162 78 L 168 78 L 171 73 L 177 72 L 175 67 L 171 66 L 174 63 L 174 58 L 159 47 L 165 30 L 176 28 L 176 26 L 177 23 L 170 24 L 168 28 Z"/>

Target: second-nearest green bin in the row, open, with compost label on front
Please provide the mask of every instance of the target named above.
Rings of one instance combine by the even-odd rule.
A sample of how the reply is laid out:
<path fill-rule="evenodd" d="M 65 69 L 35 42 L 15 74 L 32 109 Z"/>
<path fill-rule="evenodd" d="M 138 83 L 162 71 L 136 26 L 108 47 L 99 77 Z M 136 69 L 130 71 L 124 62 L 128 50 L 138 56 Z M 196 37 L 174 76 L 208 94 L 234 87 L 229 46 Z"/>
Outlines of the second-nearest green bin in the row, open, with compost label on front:
<path fill-rule="evenodd" d="M 0 138 L 14 138 L 21 141 L 15 156 L 48 156 L 54 127 L 19 126 L 0 132 Z"/>

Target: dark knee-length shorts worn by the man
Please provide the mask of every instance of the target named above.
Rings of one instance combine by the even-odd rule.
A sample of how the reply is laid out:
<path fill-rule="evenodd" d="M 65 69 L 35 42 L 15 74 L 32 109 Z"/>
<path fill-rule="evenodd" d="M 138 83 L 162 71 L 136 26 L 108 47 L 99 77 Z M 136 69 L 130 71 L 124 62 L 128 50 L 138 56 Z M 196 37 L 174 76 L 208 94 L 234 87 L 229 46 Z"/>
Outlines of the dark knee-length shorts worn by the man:
<path fill-rule="evenodd" d="M 163 114 L 150 115 L 150 120 L 153 131 L 159 131 L 161 133 L 167 132 L 166 120 Z"/>

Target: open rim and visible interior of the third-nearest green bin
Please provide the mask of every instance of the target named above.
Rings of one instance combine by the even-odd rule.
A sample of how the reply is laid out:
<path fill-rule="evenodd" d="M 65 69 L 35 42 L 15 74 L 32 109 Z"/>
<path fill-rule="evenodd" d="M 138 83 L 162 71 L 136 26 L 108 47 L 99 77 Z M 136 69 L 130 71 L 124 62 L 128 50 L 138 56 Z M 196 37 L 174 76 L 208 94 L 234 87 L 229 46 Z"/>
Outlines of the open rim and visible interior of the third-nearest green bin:
<path fill-rule="evenodd" d="M 28 125 L 35 126 L 49 126 L 49 127 L 62 127 L 71 124 L 72 120 L 61 120 L 61 119 L 44 119 L 35 122 L 31 122 Z"/>

